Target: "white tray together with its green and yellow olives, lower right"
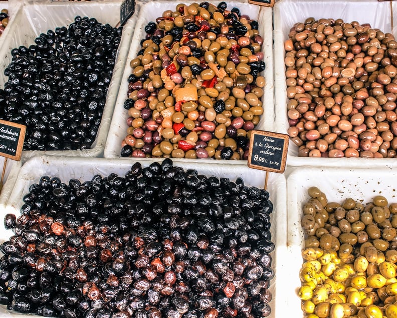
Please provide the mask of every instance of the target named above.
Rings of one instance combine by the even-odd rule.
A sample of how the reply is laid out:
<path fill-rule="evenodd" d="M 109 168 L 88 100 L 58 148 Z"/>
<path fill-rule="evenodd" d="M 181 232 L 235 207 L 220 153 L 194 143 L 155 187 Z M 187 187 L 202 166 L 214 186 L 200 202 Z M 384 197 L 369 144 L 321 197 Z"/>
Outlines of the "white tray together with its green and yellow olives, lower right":
<path fill-rule="evenodd" d="M 395 302 L 394 178 L 390 169 L 291 171 L 287 244 L 293 278 L 286 296 L 290 308 L 302 316 L 373 311 L 375 316 L 387 312 L 385 316 L 392 317 L 387 305 Z"/>

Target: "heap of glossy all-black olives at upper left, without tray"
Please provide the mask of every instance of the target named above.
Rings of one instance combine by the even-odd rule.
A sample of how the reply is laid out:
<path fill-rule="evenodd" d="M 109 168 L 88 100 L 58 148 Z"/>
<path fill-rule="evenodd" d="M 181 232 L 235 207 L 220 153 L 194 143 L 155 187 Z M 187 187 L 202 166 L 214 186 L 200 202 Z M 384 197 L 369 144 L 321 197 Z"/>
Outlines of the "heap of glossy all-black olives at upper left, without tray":
<path fill-rule="evenodd" d="M 122 28 L 77 16 L 11 51 L 0 119 L 26 125 L 24 150 L 90 149 L 101 122 Z"/>

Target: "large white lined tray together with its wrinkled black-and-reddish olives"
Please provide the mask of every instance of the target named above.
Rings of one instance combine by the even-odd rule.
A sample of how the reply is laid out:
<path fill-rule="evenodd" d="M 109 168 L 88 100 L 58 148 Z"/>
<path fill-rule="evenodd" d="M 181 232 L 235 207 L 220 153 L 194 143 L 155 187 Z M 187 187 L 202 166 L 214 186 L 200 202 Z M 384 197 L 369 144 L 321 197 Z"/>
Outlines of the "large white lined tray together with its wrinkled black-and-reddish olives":
<path fill-rule="evenodd" d="M 54 263 L 53 269 L 58 272 L 60 269 L 56 269 L 56 267 L 59 258 L 72 257 L 70 260 L 69 258 L 65 260 L 70 266 L 74 266 L 73 250 L 77 249 L 81 253 L 84 250 L 85 252 L 80 255 L 81 257 L 86 255 L 86 258 L 81 261 L 82 269 L 77 270 L 77 273 L 84 274 L 82 271 L 84 269 L 87 276 L 83 275 L 85 278 L 79 275 L 75 276 L 76 272 L 69 265 L 62 270 L 60 275 L 62 279 L 66 275 L 69 283 L 77 283 L 88 288 L 87 294 L 82 296 L 83 299 L 97 297 L 98 294 L 95 292 L 97 288 L 101 290 L 105 288 L 104 293 L 100 297 L 98 296 L 95 303 L 98 306 L 102 303 L 103 308 L 109 308 L 115 304 L 116 307 L 111 310 L 116 311 L 139 312 L 139 303 L 142 301 L 139 300 L 139 295 L 145 294 L 145 300 L 154 301 L 151 306 L 151 308 L 154 307 L 153 310 L 155 308 L 165 310 L 163 305 L 168 303 L 169 308 L 166 306 L 166 310 L 177 310 L 178 314 L 181 314 L 181 310 L 185 314 L 194 314 L 195 310 L 207 312 L 207 315 L 216 314 L 218 311 L 221 314 L 223 310 L 234 312 L 237 308 L 243 311 L 248 310 L 247 312 L 252 311 L 255 316 L 268 316 L 269 309 L 272 314 L 276 314 L 275 280 L 277 273 L 274 270 L 282 249 L 275 248 L 273 252 L 270 251 L 275 246 L 285 246 L 285 242 L 283 242 L 285 236 L 277 234 L 285 233 L 283 228 L 286 223 L 284 219 L 286 191 L 284 177 L 282 175 L 271 176 L 268 191 L 265 191 L 261 190 L 264 173 L 250 176 L 249 168 L 241 169 L 236 173 L 234 169 L 219 169 L 219 165 L 214 164 L 203 164 L 200 169 L 196 169 L 194 166 L 194 164 L 187 164 L 177 168 L 168 159 L 162 162 L 145 162 L 141 165 L 140 163 L 131 163 L 130 160 L 111 161 L 93 158 L 88 163 L 84 158 L 69 158 L 68 160 L 50 157 L 33 158 L 22 167 L 19 175 L 21 179 L 18 180 L 11 195 L 9 209 L 4 211 L 7 214 L 16 214 L 19 220 L 17 228 L 26 234 L 21 232 L 22 236 L 19 236 L 18 233 L 15 233 L 14 238 L 10 241 L 8 237 L 12 232 L 10 230 L 2 232 L 2 241 L 8 240 L 2 245 L 3 249 L 11 251 L 8 246 L 15 246 L 13 242 L 19 240 L 17 237 L 22 239 L 32 233 L 32 231 L 23 229 L 30 223 L 23 220 L 42 215 L 42 213 L 34 212 L 39 208 L 34 202 L 38 200 L 37 196 L 41 197 L 40 193 L 45 187 L 48 189 L 45 192 L 49 196 L 54 196 L 53 200 L 45 200 L 48 202 L 46 205 L 52 205 L 50 202 L 53 202 L 57 206 L 57 212 L 56 215 L 47 216 L 40 221 L 43 227 L 37 234 L 44 235 L 46 239 L 43 238 L 43 240 L 46 242 L 49 239 L 48 247 L 53 244 L 50 240 L 51 237 L 55 241 L 59 241 L 56 249 L 60 249 L 60 251 L 62 248 L 66 248 L 66 245 L 62 247 L 61 241 L 67 245 L 75 244 L 76 246 L 69 252 L 63 254 L 54 252 L 50 256 L 44 250 L 44 254 L 40 252 L 42 247 L 45 248 L 43 245 L 42 247 L 37 246 L 36 252 L 32 251 L 32 253 L 40 252 L 41 254 L 37 257 L 44 258 L 45 264 L 49 263 L 48 265 L 43 263 L 45 268 Z M 35 168 L 32 169 L 33 167 Z M 244 181 L 247 178 L 249 181 Z M 74 200 L 74 203 L 68 200 L 70 195 L 70 199 Z M 152 199 L 157 196 L 162 199 L 154 202 Z M 44 203 L 43 200 L 39 201 Z M 122 203 L 124 201 L 125 203 Z M 59 202 L 59 204 L 55 202 Z M 150 208 L 147 210 L 145 207 Z M 21 216 L 19 216 L 20 209 Z M 46 209 L 52 210 L 49 206 Z M 71 213 L 71 209 L 79 211 L 78 214 Z M 272 210 L 271 213 L 270 210 Z M 120 217 L 111 218 L 106 211 L 111 215 L 120 215 Z M 49 213 L 51 214 L 51 212 Z M 123 214 L 125 215 L 121 216 Z M 3 214 L 2 217 L 4 216 Z M 200 222 L 198 222 L 199 219 Z M 97 222 L 95 220 L 98 220 L 101 225 L 89 226 L 92 222 Z M 245 225 L 239 220 L 245 220 L 243 222 Z M 254 220 L 256 220 L 255 223 L 253 223 Z M 239 225 L 240 223 L 241 225 Z M 267 225 L 265 226 L 265 224 Z M 15 226 L 11 216 L 6 216 L 6 226 Z M 281 228 L 279 229 L 278 226 Z M 72 228 L 75 228 L 75 232 Z M 268 239 L 266 239 L 265 232 L 269 230 L 269 234 L 266 234 Z M 69 232 L 71 232 L 71 236 L 69 236 Z M 121 232 L 123 232 L 123 238 L 117 240 L 116 236 Z M 83 233 L 85 234 L 83 235 Z M 260 237 L 259 233 L 261 233 Z M 65 239 L 64 235 L 68 239 Z M 88 239 L 87 235 L 96 235 L 96 237 Z M 273 243 L 270 243 L 270 240 Z M 149 244 L 149 241 L 152 243 Z M 94 244 L 96 248 L 92 245 L 93 242 L 96 242 L 96 245 Z M 180 244 L 181 242 L 186 245 Z M 117 248 L 112 244 L 117 244 L 117 246 L 125 244 L 124 253 L 116 252 Z M 142 246 L 142 244 L 144 245 Z M 113 249 L 112 246 L 116 249 Z M 91 253 L 91 250 L 96 250 L 97 253 L 94 251 Z M 112 252 L 108 255 L 107 253 L 110 251 Z M 267 257 L 265 253 L 270 253 L 271 258 Z M 30 253 L 25 254 L 27 257 L 30 255 Z M 171 254 L 174 254 L 175 260 Z M 52 257 L 53 260 L 50 261 L 49 257 Z M 181 260 L 184 260 L 183 264 Z M 108 265 L 104 267 L 102 273 L 97 273 L 96 267 L 91 266 L 94 261 L 98 262 L 97 268 L 105 266 L 104 263 Z M 169 265 L 168 261 L 170 261 Z M 235 264 L 232 266 L 230 262 Z M 141 263 L 144 264 L 143 267 L 140 265 Z M 150 263 L 151 265 L 149 265 Z M 202 264 L 201 267 L 199 263 Z M 88 266 L 89 264 L 90 266 Z M 165 266 L 164 272 L 160 268 L 161 264 L 165 264 L 163 265 Z M 212 269 L 210 270 L 210 268 Z M 119 269 L 121 271 L 118 271 Z M 130 270 L 133 275 L 128 278 L 125 275 Z M 47 270 L 44 272 L 46 277 L 52 277 Z M 68 276 L 69 272 L 71 274 L 73 272 L 70 277 Z M 90 272 L 92 272 L 92 276 Z M 265 272 L 269 279 L 259 283 L 262 279 L 260 277 L 267 277 Z M 105 279 L 102 277 L 110 273 L 118 278 L 106 277 Z M 157 279 L 153 275 L 157 275 Z M 275 277 L 272 281 L 266 282 L 273 275 Z M 52 281 L 51 277 L 49 279 Z M 251 284 L 245 287 L 242 277 L 249 279 Z M 73 279 L 83 280 L 74 282 Z M 167 284 L 161 283 L 162 279 L 165 279 Z M 174 282 L 173 279 L 176 279 L 175 284 L 171 283 L 169 279 L 172 282 Z M 25 281 L 25 279 L 23 280 Z M 255 283 L 256 280 L 258 280 L 258 284 Z M 54 283 L 57 281 L 57 279 L 54 280 Z M 119 286 L 113 284 L 117 281 Z M 95 285 L 89 282 L 93 282 Z M 233 284 L 230 284 L 232 282 Z M 238 282 L 240 283 L 237 284 Z M 26 283 L 28 284 L 28 281 Z M 62 288 L 63 283 L 59 283 L 59 288 Z M 162 286 L 161 291 L 157 290 L 158 284 Z M 210 293 L 208 288 L 212 284 L 216 285 L 213 286 L 215 289 L 211 289 Z M 108 304 L 100 301 L 103 297 L 115 299 L 113 297 L 116 297 L 116 294 L 126 292 L 122 286 L 128 287 L 126 290 L 131 292 L 135 290 L 127 304 L 120 299 L 117 301 L 108 299 Z M 55 288 L 57 287 L 55 286 Z M 32 287 L 28 286 L 28 289 L 32 290 Z M 143 293 L 148 289 L 152 291 Z M 266 291 L 267 289 L 270 293 Z M 191 298 L 192 302 L 188 304 L 189 300 L 186 297 L 193 297 L 189 290 L 200 291 L 200 295 L 198 298 Z M 252 303 L 244 301 L 242 292 L 243 294 L 247 292 L 250 297 L 254 297 L 250 298 L 253 300 Z M 161 294 L 158 295 L 159 297 L 165 298 L 160 303 L 155 301 L 157 293 Z M 212 293 L 214 293 L 214 298 L 212 298 Z M 150 296 L 147 299 L 149 294 L 154 298 Z M 219 295 L 217 296 L 217 294 Z M 270 301 L 271 295 L 273 299 Z M 35 308 L 36 305 L 32 304 L 29 297 L 35 296 L 30 292 L 20 300 L 29 303 L 31 308 Z M 258 300 L 260 299 L 259 303 L 254 301 L 256 297 Z M 67 298 L 65 301 L 68 303 L 70 300 Z M 81 300 L 81 302 L 84 305 L 84 301 Z M 60 300 L 59 303 L 62 301 Z M 56 304 L 58 304 L 58 300 Z M 17 308 L 18 305 L 15 305 Z M 77 308 L 79 305 L 80 303 Z M 138 307 L 134 307 L 135 305 Z M 128 309 L 127 306 L 129 306 Z M 124 309 L 120 309 L 121 307 Z M 78 312 L 77 308 L 73 310 Z M 218 311 L 214 311 L 214 309 Z"/>

